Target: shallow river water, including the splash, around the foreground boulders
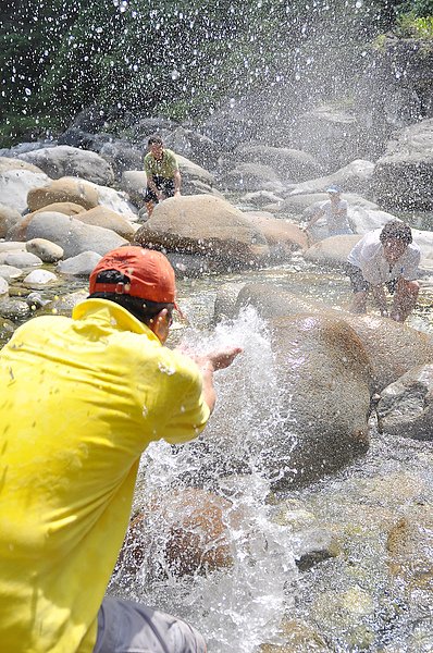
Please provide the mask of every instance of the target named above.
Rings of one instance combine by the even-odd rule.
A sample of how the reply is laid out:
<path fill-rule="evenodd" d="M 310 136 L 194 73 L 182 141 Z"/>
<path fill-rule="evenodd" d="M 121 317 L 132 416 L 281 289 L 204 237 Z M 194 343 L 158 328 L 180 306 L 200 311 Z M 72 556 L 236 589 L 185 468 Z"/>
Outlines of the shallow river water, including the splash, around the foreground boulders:
<path fill-rule="evenodd" d="M 250 281 L 273 282 L 334 308 L 347 307 L 350 299 L 338 272 L 319 270 L 300 257 L 274 269 L 178 282 L 186 321 L 175 322 L 171 344 L 206 349 L 231 343 L 244 353 L 232 368 L 215 374 L 219 401 L 201 435 L 211 445 L 200 464 L 194 444 L 152 444 L 141 460 L 134 508 L 149 494 L 170 498 L 188 484 L 230 500 L 223 521 L 232 565 L 178 577 L 164 559 L 170 534 L 156 514 L 147 521 L 144 562 L 133 570 L 127 562 L 120 566 L 109 591 L 189 620 L 206 636 L 209 653 L 433 651 L 432 445 L 389 441 L 378 433 L 372 418 L 364 457 L 310 488 L 273 495 L 260 473 L 263 443 L 272 439 L 280 418 L 267 325 L 252 308 L 211 325 L 219 288 Z M 77 291 L 85 282 L 66 282 L 41 294 L 61 296 L 66 286 Z M 429 333 L 431 299 L 425 284 L 409 320 Z M 54 311 L 62 312 L 59 303 Z M 227 426 L 228 404 L 237 410 L 230 410 L 235 417 Z M 242 469 L 220 466 L 222 421 L 244 461 Z M 289 452 L 284 463 L 289 464 Z M 233 513 L 242 514 L 242 520 L 232 520 Z M 305 546 L 306 538 L 319 535 L 332 546 L 323 546 L 327 553 L 322 562 L 300 569 L 299 541 Z"/>

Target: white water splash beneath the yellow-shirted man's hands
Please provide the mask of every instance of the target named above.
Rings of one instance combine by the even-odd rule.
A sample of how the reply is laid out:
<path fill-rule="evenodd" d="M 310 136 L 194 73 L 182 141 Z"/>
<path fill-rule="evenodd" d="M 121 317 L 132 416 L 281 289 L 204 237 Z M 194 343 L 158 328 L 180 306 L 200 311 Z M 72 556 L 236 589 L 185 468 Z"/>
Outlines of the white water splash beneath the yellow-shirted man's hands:
<path fill-rule="evenodd" d="M 191 479 L 201 479 L 200 491 L 211 491 L 223 502 L 221 540 L 231 564 L 214 570 L 203 565 L 180 577 L 168 562 L 166 546 L 173 523 L 181 523 L 184 515 L 176 508 L 175 515 L 168 518 L 170 510 L 165 510 L 162 518 L 157 510 L 144 522 L 139 565 L 133 565 L 131 571 L 126 554 L 110 591 L 187 619 L 203 632 L 210 653 L 252 653 L 262 642 L 277 641 L 279 626 L 290 601 L 285 587 L 296 576 L 292 535 L 272 521 L 267 503 L 270 482 L 260 471 L 260 447 L 248 446 L 259 439 L 265 443 L 271 436 L 271 422 L 279 409 L 273 356 L 264 324 L 251 308 L 209 335 L 190 331 L 184 344 L 191 343 L 195 350 L 201 352 L 228 344 L 244 347 L 232 368 L 215 374 L 218 408 L 211 418 L 212 431 L 202 435 L 203 442 L 210 438 L 223 446 L 225 456 L 234 452 L 239 457 L 240 452 L 244 473 L 226 473 L 224 464 L 223 469 L 219 468 L 221 455 L 215 459 L 215 443 L 205 446 L 200 455 L 194 445 L 173 448 L 164 442 L 154 443 L 141 460 L 136 507 L 149 495 L 163 496 L 170 504 L 173 493 L 185 489 Z M 233 402 L 235 406 L 238 403 L 237 415 L 224 421 L 227 412 L 234 414 L 233 405 L 227 410 Z M 268 422 L 261 417 L 265 414 Z M 222 427 L 224 438 L 230 439 L 224 444 L 218 432 Z M 203 467 L 212 469 L 205 480 L 200 476 Z M 202 547 L 218 544 L 221 541 L 205 542 Z"/>

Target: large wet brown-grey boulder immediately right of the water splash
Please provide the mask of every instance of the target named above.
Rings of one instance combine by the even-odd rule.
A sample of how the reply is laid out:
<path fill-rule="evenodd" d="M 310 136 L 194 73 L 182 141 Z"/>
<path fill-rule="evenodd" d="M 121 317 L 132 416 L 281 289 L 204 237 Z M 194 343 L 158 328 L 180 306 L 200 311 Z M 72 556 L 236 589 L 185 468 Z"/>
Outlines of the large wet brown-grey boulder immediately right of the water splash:
<path fill-rule="evenodd" d="M 263 464 L 284 488 L 335 472 L 367 451 L 370 361 L 336 317 L 279 318 L 271 330 L 282 410 Z"/>

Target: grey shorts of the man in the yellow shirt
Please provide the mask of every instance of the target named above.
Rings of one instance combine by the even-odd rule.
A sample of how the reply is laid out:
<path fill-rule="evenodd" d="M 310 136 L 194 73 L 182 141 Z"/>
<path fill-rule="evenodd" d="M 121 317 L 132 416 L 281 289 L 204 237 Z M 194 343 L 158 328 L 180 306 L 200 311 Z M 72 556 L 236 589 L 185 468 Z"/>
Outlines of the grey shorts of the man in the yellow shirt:
<path fill-rule="evenodd" d="M 206 653 L 186 621 L 132 601 L 108 596 L 98 613 L 94 653 Z"/>

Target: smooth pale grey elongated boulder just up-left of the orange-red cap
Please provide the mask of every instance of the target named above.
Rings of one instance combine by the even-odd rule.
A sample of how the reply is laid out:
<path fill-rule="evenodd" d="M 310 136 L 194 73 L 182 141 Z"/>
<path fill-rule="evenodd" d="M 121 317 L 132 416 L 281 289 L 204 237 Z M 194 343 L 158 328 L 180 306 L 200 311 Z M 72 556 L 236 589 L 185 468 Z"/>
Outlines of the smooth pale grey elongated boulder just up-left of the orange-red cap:
<path fill-rule="evenodd" d="M 27 225 L 26 241 L 45 238 L 63 248 L 64 257 L 82 251 L 96 251 L 103 256 L 110 249 L 125 245 L 127 241 L 109 229 L 85 224 L 63 213 L 36 213 Z"/>

